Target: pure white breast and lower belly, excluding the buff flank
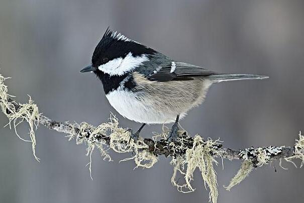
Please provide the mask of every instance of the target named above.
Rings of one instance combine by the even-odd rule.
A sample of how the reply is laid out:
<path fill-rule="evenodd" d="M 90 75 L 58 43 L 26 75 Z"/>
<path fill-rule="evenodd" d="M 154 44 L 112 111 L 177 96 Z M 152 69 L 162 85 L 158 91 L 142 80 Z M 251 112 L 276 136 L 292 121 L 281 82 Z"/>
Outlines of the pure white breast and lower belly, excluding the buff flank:
<path fill-rule="evenodd" d="M 182 118 L 185 113 L 172 111 L 160 111 L 153 108 L 147 100 L 142 101 L 136 98 L 136 93 L 126 91 L 113 91 L 106 95 L 110 104 L 123 117 L 146 124 L 173 123 L 177 114 Z"/>

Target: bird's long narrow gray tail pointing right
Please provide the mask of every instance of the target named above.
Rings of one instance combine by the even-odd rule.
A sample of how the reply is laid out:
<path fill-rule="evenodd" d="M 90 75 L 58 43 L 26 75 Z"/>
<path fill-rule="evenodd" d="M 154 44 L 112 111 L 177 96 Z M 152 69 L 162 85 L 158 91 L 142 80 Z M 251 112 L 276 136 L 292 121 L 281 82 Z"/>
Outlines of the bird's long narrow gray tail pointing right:
<path fill-rule="evenodd" d="M 215 74 L 207 76 L 213 82 L 232 81 L 232 80 L 246 80 L 246 79 L 266 79 L 268 76 L 252 75 L 252 74 Z"/>

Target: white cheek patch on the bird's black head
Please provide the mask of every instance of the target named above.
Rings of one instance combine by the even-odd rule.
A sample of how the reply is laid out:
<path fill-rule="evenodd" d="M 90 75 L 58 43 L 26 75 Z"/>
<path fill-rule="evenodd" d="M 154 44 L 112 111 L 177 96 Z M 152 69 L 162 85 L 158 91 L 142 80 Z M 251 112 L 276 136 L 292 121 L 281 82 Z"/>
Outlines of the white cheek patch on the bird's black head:
<path fill-rule="evenodd" d="M 128 71 L 132 71 L 149 58 L 142 54 L 141 56 L 132 56 L 129 52 L 125 58 L 119 57 L 109 61 L 106 64 L 98 66 L 98 69 L 110 75 L 123 75 Z"/>

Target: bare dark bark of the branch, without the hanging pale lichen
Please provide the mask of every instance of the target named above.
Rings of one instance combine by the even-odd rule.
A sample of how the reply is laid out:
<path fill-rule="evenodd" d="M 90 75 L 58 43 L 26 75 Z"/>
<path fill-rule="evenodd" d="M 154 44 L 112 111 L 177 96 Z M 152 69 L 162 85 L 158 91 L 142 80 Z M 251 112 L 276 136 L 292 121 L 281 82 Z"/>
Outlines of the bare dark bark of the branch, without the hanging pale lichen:
<path fill-rule="evenodd" d="M 10 103 L 13 103 L 16 110 L 18 111 L 20 109 L 20 105 L 16 103 L 15 100 L 12 98 L 8 99 Z M 9 110 L 7 110 L 9 113 Z M 55 130 L 59 133 L 65 133 L 68 135 L 72 134 L 78 134 L 80 129 L 78 127 L 75 127 L 74 124 L 68 123 L 68 122 L 58 122 L 58 121 L 53 121 L 50 118 L 44 116 L 44 115 L 39 115 L 39 123 L 43 126 L 45 126 L 48 129 Z M 96 127 L 91 127 L 86 129 L 86 136 L 80 137 L 80 139 L 88 139 L 90 137 L 90 133 L 95 129 Z M 95 135 L 95 138 L 99 141 L 105 141 L 108 145 L 110 144 L 110 136 L 106 134 L 100 134 L 97 133 Z M 176 148 L 182 148 L 183 150 L 176 151 L 171 149 L 168 146 L 168 142 L 166 139 L 160 139 L 158 141 L 155 141 L 151 138 L 139 138 L 140 140 L 143 140 L 143 142 L 148 146 L 147 150 L 156 156 L 164 155 L 165 157 L 171 156 L 171 157 L 177 157 L 178 155 L 184 155 L 187 149 L 190 149 L 193 147 L 193 138 L 187 136 L 186 132 L 182 134 L 182 140 L 183 143 L 176 141 L 175 147 Z M 127 143 L 121 143 L 123 145 L 126 145 Z M 181 146 L 183 145 L 183 146 Z M 268 155 L 269 159 L 267 161 L 273 161 L 273 160 L 278 160 L 282 158 L 288 158 L 295 156 L 295 148 L 294 147 L 285 147 L 285 146 L 280 146 L 280 147 L 261 147 L 261 148 L 245 148 L 245 149 L 230 149 L 230 148 L 224 148 L 222 144 L 215 144 L 213 146 L 214 153 L 212 156 L 215 157 L 222 157 L 222 158 L 227 158 L 229 160 L 249 160 L 254 164 L 254 167 L 258 166 L 258 156 L 257 156 L 257 150 L 262 149 L 265 150 Z M 274 152 L 274 150 L 278 150 L 278 152 Z M 304 152 L 304 151 L 301 151 Z"/>

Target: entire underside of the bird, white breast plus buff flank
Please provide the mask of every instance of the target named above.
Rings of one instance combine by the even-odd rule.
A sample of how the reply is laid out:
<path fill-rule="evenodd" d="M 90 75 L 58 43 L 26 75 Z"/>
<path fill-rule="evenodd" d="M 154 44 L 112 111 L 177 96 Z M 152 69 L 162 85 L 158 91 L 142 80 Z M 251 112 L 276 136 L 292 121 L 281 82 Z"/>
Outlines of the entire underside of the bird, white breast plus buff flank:
<path fill-rule="evenodd" d="M 106 96 L 119 114 L 147 124 L 173 123 L 177 115 L 183 118 L 188 110 L 204 101 L 212 84 L 209 80 L 199 79 L 168 81 L 165 85 L 145 78 L 134 79 L 137 83 L 136 91 L 124 91 L 121 88 Z"/>

